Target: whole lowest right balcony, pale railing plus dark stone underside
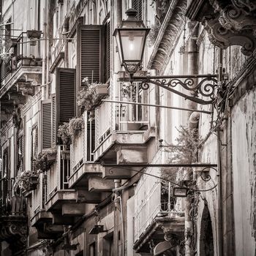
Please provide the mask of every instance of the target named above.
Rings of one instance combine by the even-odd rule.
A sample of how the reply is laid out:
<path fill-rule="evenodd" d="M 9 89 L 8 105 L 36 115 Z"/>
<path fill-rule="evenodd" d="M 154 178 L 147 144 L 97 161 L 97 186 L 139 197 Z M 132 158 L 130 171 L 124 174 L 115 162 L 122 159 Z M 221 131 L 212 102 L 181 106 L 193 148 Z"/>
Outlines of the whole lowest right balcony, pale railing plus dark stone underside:
<path fill-rule="evenodd" d="M 170 190 L 163 189 L 160 181 L 151 176 L 140 179 L 135 188 L 135 202 L 135 252 L 150 253 L 151 239 L 155 245 L 168 236 L 184 240 L 181 199 L 171 197 Z"/>

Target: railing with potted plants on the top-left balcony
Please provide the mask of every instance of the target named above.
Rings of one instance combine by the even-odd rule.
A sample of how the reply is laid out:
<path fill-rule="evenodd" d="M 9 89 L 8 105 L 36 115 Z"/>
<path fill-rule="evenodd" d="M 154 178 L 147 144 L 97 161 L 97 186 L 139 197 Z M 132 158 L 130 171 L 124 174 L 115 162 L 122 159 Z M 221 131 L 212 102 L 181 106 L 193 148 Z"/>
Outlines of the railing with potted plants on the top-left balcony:
<path fill-rule="evenodd" d="M 1 58 L 1 83 L 8 80 L 20 67 L 42 66 L 42 43 L 38 40 L 35 45 L 31 45 L 30 42 L 26 32 L 23 32 L 8 44 L 10 48 L 2 53 Z"/>

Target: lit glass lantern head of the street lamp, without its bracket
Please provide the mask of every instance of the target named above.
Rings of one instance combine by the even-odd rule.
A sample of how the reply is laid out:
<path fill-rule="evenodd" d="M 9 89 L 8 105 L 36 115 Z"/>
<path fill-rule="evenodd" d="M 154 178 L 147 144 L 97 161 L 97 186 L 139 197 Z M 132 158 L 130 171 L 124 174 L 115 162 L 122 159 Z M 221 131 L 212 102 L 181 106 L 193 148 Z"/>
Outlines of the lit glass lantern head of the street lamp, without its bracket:
<path fill-rule="evenodd" d="M 142 63 L 146 37 L 150 29 L 146 28 L 142 20 L 136 19 L 136 10 L 131 8 L 125 13 L 128 16 L 127 20 L 121 23 L 120 28 L 115 29 L 113 35 L 116 37 L 121 66 L 134 74 Z"/>

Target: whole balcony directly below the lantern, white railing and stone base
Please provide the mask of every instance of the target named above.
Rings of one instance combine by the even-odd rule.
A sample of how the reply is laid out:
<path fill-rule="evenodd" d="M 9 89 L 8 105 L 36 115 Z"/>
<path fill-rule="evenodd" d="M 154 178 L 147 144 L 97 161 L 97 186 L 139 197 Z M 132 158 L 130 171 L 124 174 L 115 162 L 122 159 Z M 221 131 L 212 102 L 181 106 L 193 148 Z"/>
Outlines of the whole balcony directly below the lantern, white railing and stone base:
<path fill-rule="evenodd" d="M 95 119 L 99 122 L 95 124 L 94 161 L 147 162 L 147 144 L 154 138 L 149 108 L 128 103 L 148 103 L 151 92 L 141 89 L 138 82 L 118 82 L 117 87 L 114 99 L 121 103 L 104 102 L 95 111 Z M 105 116 L 110 116 L 109 121 L 105 121 Z M 135 159 L 135 154 L 140 158 Z M 127 158 L 121 159 L 124 155 Z"/>

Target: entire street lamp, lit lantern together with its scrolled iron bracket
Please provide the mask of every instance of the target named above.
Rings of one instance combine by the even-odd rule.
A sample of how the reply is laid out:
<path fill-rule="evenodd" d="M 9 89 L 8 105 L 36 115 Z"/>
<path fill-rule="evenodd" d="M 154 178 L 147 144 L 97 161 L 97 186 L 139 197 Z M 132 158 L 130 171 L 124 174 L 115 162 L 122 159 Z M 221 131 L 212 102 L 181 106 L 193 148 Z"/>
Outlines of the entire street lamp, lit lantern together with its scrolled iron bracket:
<path fill-rule="evenodd" d="M 146 37 L 150 29 L 146 28 L 142 20 L 135 18 L 136 10 L 129 9 L 125 13 L 128 16 L 127 20 L 122 21 L 121 26 L 114 31 L 113 35 L 116 37 L 121 66 L 129 73 L 129 80 L 140 82 L 140 88 L 143 90 L 147 90 L 149 83 L 152 83 L 192 102 L 201 105 L 214 104 L 218 89 L 215 74 L 135 76 L 143 60 Z M 200 81 L 195 83 L 197 78 L 200 78 Z M 176 86 L 182 86 L 188 93 L 185 94 L 184 90 L 176 90 Z M 199 95 L 202 97 L 199 98 Z"/>

